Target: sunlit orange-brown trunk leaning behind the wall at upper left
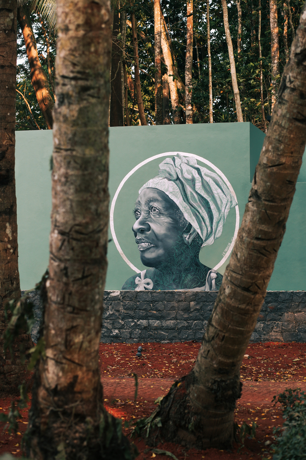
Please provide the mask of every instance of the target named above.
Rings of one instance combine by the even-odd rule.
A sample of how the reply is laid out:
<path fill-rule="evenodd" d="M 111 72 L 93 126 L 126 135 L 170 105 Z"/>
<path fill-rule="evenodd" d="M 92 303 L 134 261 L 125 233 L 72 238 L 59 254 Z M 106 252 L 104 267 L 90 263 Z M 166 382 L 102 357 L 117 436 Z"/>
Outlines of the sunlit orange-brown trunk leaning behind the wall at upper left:
<path fill-rule="evenodd" d="M 30 65 L 31 83 L 35 91 L 36 99 L 40 110 L 44 115 L 47 128 L 52 129 L 52 109 L 54 102 L 50 94 L 48 77 L 39 62 L 36 41 L 26 5 L 19 6 L 17 19 L 22 30 L 24 43 L 26 45 L 28 62 Z"/>

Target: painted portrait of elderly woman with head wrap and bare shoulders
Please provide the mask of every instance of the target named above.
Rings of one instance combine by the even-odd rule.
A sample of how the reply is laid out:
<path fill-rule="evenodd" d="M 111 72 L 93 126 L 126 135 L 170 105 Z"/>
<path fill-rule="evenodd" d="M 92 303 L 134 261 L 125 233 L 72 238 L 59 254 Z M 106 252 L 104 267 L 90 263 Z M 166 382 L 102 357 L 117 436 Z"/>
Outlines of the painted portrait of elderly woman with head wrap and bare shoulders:
<path fill-rule="evenodd" d="M 166 158 L 140 188 L 134 208 L 134 241 L 148 268 L 122 290 L 218 290 L 223 276 L 200 262 L 200 249 L 221 236 L 236 205 L 228 185 L 194 157 Z"/>

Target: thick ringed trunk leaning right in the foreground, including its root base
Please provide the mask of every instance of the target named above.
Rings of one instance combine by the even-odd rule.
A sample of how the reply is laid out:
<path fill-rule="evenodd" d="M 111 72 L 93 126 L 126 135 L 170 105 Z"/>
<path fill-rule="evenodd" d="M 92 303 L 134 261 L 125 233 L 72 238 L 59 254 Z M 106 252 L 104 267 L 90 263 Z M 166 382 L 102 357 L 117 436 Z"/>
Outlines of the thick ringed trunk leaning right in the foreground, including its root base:
<path fill-rule="evenodd" d="M 162 399 L 150 420 L 155 426 L 150 431 L 151 443 L 162 438 L 197 449 L 222 449 L 232 443 L 235 402 L 242 386 L 239 369 L 284 237 L 305 150 L 305 65 L 304 8 L 195 367 Z"/>

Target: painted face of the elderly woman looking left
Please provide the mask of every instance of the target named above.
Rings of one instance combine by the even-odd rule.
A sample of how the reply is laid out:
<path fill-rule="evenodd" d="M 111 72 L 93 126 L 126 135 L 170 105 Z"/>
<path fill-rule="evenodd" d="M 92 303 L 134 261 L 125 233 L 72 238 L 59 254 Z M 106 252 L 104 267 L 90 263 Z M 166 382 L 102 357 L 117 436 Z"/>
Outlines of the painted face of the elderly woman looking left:
<path fill-rule="evenodd" d="M 174 202 L 158 189 L 144 189 L 136 203 L 136 222 L 132 227 L 141 262 L 156 267 L 166 262 L 181 241 L 182 231 Z"/>

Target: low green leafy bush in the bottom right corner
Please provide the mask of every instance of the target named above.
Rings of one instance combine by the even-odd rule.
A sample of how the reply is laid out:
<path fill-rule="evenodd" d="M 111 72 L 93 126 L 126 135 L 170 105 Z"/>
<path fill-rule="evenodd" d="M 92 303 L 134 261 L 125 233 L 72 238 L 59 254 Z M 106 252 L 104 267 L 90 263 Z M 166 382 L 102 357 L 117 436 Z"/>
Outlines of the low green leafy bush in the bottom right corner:
<path fill-rule="evenodd" d="M 304 460 L 306 458 L 306 395 L 300 388 L 286 389 L 273 397 L 284 408 L 284 425 L 273 429 L 276 439 L 273 460 Z"/>

